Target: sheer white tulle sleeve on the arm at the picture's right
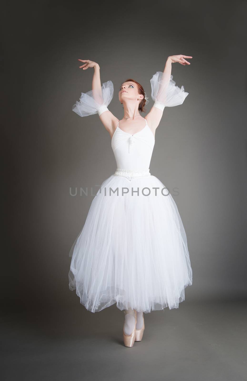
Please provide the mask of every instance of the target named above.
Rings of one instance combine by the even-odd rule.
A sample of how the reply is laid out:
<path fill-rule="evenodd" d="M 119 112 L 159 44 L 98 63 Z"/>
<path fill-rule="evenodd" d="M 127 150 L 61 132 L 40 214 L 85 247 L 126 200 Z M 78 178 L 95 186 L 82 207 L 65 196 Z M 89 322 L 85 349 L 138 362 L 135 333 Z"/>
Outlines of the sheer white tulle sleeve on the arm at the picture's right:
<path fill-rule="evenodd" d="M 173 107 L 182 104 L 189 93 L 184 91 L 184 86 L 181 89 L 175 86 L 173 75 L 170 78 L 167 74 L 156 72 L 153 75 L 151 82 L 151 97 L 154 101 L 154 107 L 164 110 L 164 107 Z"/>

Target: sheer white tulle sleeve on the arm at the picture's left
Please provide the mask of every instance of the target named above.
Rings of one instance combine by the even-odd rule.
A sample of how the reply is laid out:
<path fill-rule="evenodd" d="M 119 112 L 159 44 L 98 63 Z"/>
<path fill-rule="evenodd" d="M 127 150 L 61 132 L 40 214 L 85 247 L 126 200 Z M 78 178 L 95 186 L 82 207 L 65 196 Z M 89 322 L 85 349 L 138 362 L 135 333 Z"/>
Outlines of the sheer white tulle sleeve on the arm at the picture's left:
<path fill-rule="evenodd" d="M 104 82 L 101 86 L 101 94 L 97 94 L 96 91 L 90 90 L 87 93 L 82 93 L 79 102 L 76 101 L 72 107 L 72 111 L 80 115 L 80 117 L 86 117 L 93 114 L 102 114 L 107 111 L 107 106 L 113 98 L 114 88 L 112 81 Z"/>

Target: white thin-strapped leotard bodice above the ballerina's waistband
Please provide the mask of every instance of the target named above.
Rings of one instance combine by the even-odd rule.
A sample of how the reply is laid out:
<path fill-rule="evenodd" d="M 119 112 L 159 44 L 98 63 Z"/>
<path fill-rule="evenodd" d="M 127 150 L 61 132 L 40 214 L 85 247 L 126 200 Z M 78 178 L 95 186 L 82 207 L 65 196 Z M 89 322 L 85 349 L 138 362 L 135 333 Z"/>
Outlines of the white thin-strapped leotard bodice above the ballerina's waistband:
<path fill-rule="evenodd" d="M 146 119 L 145 119 L 146 121 Z M 146 126 L 135 134 L 129 134 L 117 128 L 112 136 L 111 146 L 117 168 L 125 170 L 147 170 L 154 148 L 154 134 L 146 121 Z"/>

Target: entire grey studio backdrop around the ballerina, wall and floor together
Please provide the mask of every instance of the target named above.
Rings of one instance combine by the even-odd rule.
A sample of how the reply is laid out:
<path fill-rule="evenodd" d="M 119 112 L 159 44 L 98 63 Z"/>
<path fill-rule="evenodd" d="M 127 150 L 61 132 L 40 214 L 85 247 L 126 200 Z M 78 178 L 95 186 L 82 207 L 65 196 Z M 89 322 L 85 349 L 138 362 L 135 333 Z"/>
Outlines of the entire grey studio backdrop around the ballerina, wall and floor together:
<path fill-rule="evenodd" d="M 1 338 L 4 380 L 246 380 L 246 11 L 244 1 L 9 2 L 4 60 Z M 72 106 L 93 70 L 117 88 L 150 79 L 167 56 L 189 95 L 165 108 L 151 174 L 174 195 L 193 283 L 179 309 L 145 314 L 143 340 L 123 345 L 115 305 L 92 314 L 68 287 L 69 251 L 93 195 L 116 169 L 98 115 Z M 144 116 L 145 114 L 143 114 Z"/>

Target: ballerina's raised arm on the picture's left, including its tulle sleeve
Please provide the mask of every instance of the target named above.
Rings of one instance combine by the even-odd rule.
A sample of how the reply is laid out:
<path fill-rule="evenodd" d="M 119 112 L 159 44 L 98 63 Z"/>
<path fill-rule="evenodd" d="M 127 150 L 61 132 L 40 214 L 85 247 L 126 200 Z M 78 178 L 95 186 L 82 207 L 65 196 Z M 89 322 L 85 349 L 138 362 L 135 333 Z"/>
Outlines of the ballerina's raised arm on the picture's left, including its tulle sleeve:
<path fill-rule="evenodd" d="M 89 67 L 94 69 L 92 90 L 82 93 L 80 101 L 74 104 L 72 110 L 81 117 L 98 113 L 104 127 L 112 135 L 118 121 L 107 108 L 114 94 L 113 83 L 107 81 L 101 86 L 99 64 L 89 59 L 79 59 L 79 61 L 85 62 L 80 69 L 87 70 Z"/>

